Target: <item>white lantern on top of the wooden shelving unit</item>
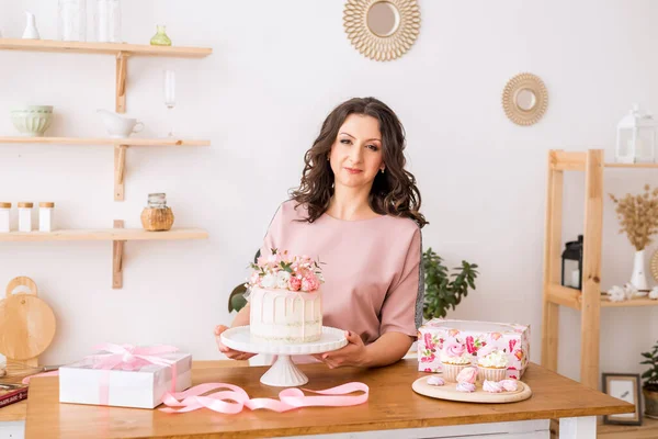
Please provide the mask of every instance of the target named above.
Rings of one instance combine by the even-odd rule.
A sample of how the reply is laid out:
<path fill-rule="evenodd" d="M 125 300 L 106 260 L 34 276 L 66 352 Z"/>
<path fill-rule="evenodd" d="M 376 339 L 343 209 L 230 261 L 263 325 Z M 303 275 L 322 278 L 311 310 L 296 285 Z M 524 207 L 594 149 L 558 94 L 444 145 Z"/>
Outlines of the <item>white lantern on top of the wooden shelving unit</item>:
<path fill-rule="evenodd" d="M 657 124 L 637 104 L 617 124 L 615 159 L 620 164 L 653 162 L 656 151 Z"/>

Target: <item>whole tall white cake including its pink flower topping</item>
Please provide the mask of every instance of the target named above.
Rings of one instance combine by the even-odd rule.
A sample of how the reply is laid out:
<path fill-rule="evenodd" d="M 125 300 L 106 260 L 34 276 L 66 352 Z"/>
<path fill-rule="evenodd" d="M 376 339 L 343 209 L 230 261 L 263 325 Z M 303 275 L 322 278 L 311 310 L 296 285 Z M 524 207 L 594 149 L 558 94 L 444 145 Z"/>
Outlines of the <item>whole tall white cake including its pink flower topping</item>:
<path fill-rule="evenodd" d="M 317 341 L 322 335 L 324 283 L 319 262 L 272 249 L 252 263 L 249 279 L 249 331 L 282 344 Z"/>

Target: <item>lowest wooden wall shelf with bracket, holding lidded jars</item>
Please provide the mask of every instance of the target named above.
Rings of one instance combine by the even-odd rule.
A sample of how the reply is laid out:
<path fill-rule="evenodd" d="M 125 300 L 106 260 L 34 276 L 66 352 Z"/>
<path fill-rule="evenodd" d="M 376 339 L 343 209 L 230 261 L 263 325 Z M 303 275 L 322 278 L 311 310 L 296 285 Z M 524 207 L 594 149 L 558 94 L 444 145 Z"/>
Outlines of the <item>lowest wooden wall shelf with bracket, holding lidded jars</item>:
<path fill-rule="evenodd" d="M 123 228 L 122 219 L 114 221 L 114 228 L 63 229 L 55 232 L 0 233 L 0 243 L 44 243 L 64 240 L 112 241 L 112 288 L 123 288 L 124 243 L 132 240 L 206 239 L 202 228 L 172 228 L 168 232 L 147 232 L 141 228 Z"/>

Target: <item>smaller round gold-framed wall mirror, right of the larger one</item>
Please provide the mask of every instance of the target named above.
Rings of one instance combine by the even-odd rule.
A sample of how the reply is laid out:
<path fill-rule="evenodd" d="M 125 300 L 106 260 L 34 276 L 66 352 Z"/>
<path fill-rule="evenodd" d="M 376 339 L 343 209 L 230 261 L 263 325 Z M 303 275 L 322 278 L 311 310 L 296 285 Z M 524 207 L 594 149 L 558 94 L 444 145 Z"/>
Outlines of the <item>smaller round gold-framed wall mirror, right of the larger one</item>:
<path fill-rule="evenodd" d="M 502 92 L 502 108 L 518 125 L 532 125 L 542 119 L 548 105 L 548 92 L 535 75 L 520 74 L 510 79 Z"/>

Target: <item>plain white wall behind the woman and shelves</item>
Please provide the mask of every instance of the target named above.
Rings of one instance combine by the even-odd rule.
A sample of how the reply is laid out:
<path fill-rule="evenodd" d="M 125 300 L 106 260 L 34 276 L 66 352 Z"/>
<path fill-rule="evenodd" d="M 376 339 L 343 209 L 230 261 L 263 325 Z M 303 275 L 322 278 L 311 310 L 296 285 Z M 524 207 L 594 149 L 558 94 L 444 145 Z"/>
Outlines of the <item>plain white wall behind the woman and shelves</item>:
<path fill-rule="evenodd" d="M 90 2 L 92 3 L 92 2 Z M 100 341 L 168 342 L 196 359 L 218 358 L 213 327 L 229 323 L 228 292 L 246 275 L 276 205 L 298 182 L 303 154 L 330 109 L 375 95 L 400 116 L 409 168 L 423 195 L 431 246 L 451 266 L 481 267 L 477 291 L 451 316 L 532 326 L 541 354 L 541 285 L 546 151 L 600 147 L 612 156 L 615 124 L 633 102 L 658 111 L 650 0 L 420 1 L 422 25 L 411 50 L 393 63 L 361 56 L 342 29 L 343 2 L 124 1 L 124 38 L 148 43 L 166 23 L 174 44 L 212 46 L 202 60 L 129 61 L 128 114 L 145 136 L 166 132 L 161 69 L 178 72 L 177 126 L 211 138 L 211 148 L 133 148 L 126 200 L 113 202 L 107 147 L 0 148 L 0 199 L 57 203 L 61 227 L 139 227 L 149 192 L 167 192 L 177 226 L 208 229 L 206 241 L 128 243 L 123 290 L 111 289 L 107 243 L 3 244 L 0 283 L 32 277 L 55 309 L 58 331 L 43 361 L 71 361 Z M 42 36 L 56 35 L 56 1 L 0 0 L 0 29 L 22 33 L 23 10 Z M 50 135 L 102 135 L 94 110 L 112 109 L 110 56 L 0 53 L 0 133 L 8 110 L 53 104 Z M 532 127 L 500 106 L 507 80 L 541 76 L 549 92 Z M 610 170 L 605 190 L 623 194 L 655 171 Z M 582 232 L 582 176 L 566 180 L 565 239 Z M 603 284 L 625 282 L 633 252 L 605 203 Z M 655 247 L 651 247 L 653 250 Z M 653 309 L 602 311 L 601 369 L 634 372 L 658 331 Z M 576 312 L 560 312 L 559 371 L 579 375 Z"/>

